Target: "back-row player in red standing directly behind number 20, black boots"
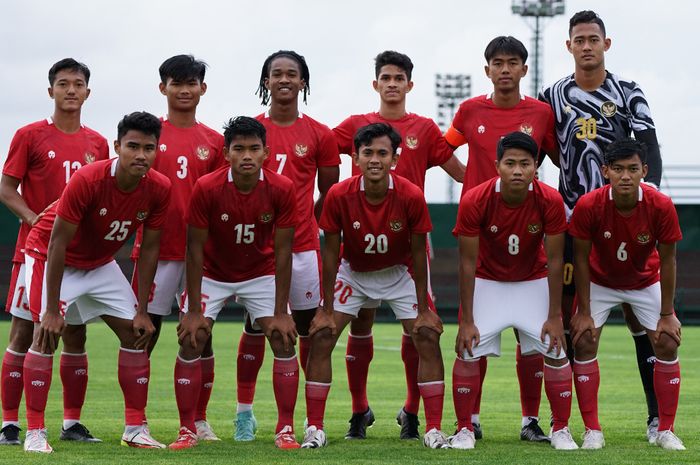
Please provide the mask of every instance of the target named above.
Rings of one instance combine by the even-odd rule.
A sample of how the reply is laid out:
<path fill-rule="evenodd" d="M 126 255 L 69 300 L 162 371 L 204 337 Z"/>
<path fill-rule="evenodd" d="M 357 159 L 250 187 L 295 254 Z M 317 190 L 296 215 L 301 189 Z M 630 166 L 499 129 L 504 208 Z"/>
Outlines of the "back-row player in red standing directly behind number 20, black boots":
<path fill-rule="evenodd" d="M 413 62 L 403 53 L 385 51 L 374 59 L 374 90 L 379 94 L 379 111 L 364 115 L 352 115 L 333 129 L 340 153 L 354 152 L 353 138 L 361 127 L 373 123 L 390 124 L 401 136 L 397 149 L 398 160 L 393 172 L 424 190 L 428 169 L 440 166 L 457 182 L 464 178 L 464 165 L 454 156 L 430 118 L 406 111 L 406 95 L 413 89 L 411 74 Z M 353 175 L 361 174 L 357 165 Z M 430 291 L 430 276 L 428 276 Z M 432 293 L 432 292 L 431 292 Z M 350 323 L 345 365 L 352 395 L 352 418 L 346 439 L 364 439 L 368 426 L 374 423 L 374 413 L 367 400 L 367 375 L 372 361 L 374 345 L 372 325 L 379 302 L 368 302 L 357 318 Z M 419 439 L 418 408 L 420 392 L 418 374 L 418 352 L 409 334 L 401 338 L 401 358 L 406 370 L 407 398 L 399 411 L 397 421 L 401 425 L 402 439 Z"/>

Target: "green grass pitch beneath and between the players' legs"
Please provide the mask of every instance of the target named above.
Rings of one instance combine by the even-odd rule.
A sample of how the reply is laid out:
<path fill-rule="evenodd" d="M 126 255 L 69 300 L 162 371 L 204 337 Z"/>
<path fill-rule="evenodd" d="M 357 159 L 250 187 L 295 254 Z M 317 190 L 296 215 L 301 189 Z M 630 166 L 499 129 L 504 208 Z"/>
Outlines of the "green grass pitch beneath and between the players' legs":
<path fill-rule="evenodd" d="M 0 323 L 0 345 L 6 346 L 9 324 Z M 453 344 L 456 326 L 446 325 L 442 337 L 446 366 L 447 395 L 443 429 L 452 433 L 454 413 L 450 390 L 450 374 L 454 360 Z M 223 438 L 219 443 L 204 443 L 191 450 L 134 450 L 119 445 L 123 429 L 123 400 L 117 384 L 117 339 L 106 325 L 88 328 L 90 381 L 83 411 L 83 422 L 105 442 L 74 444 L 58 440 L 62 402 L 55 360 L 54 380 L 47 410 L 49 440 L 55 452 L 49 456 L 26 454 L 21 447 L 0 448 L 0 464 L 206 464 L 219 463 L 293 463 L 293 464 L 643 464 L 700 463 L 700 328 L 683 330 L 681 347 L 683 370 L 681 400 L 676 432 L 683 439 L 685 452 L 668 452 L 650 446 L 645 438 L 646 407 L 639 381 L 634 346 L 627 329 L 611 326 L 603 332 L 600 350 L 601 389 L 600 417 L 606 435 L 601 451 L 559 452 L 545 444 L 525 443 L 519 439 L 520 403 L 515 375 L 514 337 L 503 334 L 503 357 L 491 359 L 484 385 L 482 425 L 485 439 L 473 451 L 428 450 L 418 441 L 400 441 L 395 415 L 405 396 L 403 366 L 398 324 L 375 327 L 374 361 L 370 367 L 369 400 L 377 422 L 365 441 L 345 441 L 343 436 L 350 417 L 350 396 L 343 355 L 346 336 L 342 336 L 334 353 L 335 379 L 326 410 L 326 431 L 329 445 L 321 450 L 278 451 L 273 445 L 276 422 L 271 386 L 272 354 L 267 351 L 259 377 L 255 414 L 258 436 L 252 443 L 236 443 L 232 439 L 235 412 L 236 346 L 241 332 L 237 323 L 218 323 L 214 328 L 216 382 L 209 405 L 209 421 Z M 151 382 L 148 417 L 155 438 L 169 443 L 178 430 L 178 416 L 173 390 L 173 366 L 176 353 L 175 324 L 166 323 L 158 347 L 151 359 Z M 303 380 L 303 376 L 302 376 Z M 303 381 L 299 389 L 296 429 L 302 433 L 305 416 Z M 549 407 L 543 392 L 541 418 L 543 426 Z M 24 408 L 20 412 L 24 426 Z M 421 414 L 421 423 L 423 422 Z M 571 429 L 577 442 L 583 431 L 576 401 L 572 408 Z"/>

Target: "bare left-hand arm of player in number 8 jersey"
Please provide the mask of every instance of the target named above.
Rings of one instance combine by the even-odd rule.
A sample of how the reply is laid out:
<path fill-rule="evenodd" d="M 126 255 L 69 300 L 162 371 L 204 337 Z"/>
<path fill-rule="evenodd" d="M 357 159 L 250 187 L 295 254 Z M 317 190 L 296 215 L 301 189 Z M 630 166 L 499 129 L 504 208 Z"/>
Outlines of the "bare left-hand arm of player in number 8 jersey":
<path fill-rule="evenodd" d="M 472 356 L 472 348 L 479 344 L 479 330 L 474 324 L 474 281 L 476 260 L 479 256 L 479 236 L 459 236 L 459 303 L 462 319 L 459 322 L 455 351 L 462 357 L 464 351 Z"/>

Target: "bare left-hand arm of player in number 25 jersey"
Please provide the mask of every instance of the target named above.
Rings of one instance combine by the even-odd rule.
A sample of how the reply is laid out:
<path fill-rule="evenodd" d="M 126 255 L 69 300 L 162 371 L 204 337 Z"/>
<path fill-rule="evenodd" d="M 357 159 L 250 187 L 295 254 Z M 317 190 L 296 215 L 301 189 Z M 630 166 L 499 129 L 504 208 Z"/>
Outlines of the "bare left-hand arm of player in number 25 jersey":
<path fill-rule="evenodd" d="M 46 263 L 46 309 L 41 320 L 41 331 L 37 344 L 43 353 L 53 353 L 65 321 L 61 314 L 61 283 L 66 265 L 66 249 L 73 240 L 78 225 L 56 217 L 49 240 Z"/>

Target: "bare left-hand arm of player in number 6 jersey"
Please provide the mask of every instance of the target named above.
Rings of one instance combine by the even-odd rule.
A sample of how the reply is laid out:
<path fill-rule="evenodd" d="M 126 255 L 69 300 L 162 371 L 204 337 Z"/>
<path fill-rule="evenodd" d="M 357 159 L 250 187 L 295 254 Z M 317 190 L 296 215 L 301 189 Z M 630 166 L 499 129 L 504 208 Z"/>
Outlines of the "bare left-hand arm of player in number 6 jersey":
<path fill-rule="evenodd" d="M 586 331 L 590 331 L 595 340 L 595 324 L 591 317 L 591 268 L 588 262 L 591 248 L 590 240 L 574 237 L 574 280 L 578 304 L 576 314 L 571 317 L 571 342 L 574 346 Z"/>

